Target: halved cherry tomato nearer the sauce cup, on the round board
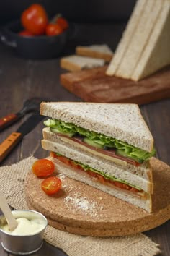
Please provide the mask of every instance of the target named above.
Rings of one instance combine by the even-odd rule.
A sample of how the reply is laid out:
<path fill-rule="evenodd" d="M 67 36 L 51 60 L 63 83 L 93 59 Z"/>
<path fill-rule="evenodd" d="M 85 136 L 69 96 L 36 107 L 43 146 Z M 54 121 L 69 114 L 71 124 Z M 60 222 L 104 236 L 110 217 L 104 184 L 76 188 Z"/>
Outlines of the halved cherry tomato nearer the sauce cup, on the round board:
<path fill-rule="evenodd" d="M 41 188 L 47 195 L 53 195 L 61 188 L 61 179 L 55 176 L 44 179 Z"/>

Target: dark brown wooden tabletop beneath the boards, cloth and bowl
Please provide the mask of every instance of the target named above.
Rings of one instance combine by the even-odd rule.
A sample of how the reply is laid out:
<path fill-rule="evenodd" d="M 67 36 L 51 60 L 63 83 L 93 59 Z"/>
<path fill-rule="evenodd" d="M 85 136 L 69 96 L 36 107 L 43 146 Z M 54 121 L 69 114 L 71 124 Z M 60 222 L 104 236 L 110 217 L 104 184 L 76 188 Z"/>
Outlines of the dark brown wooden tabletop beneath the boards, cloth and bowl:
<path fill-rule="evenodd" d="M 68 43 L 63 55 L 73 54 L 75 46 L 84 44 L 107 43 L 113 50 L 120 40 L 125 24 L 79 24 L 76 34 Z M 46 61 L 33 61 L 19 58 L 11 48 L 0 44 L 0 116 L 17 113 L 27 98 L 42 97 L 56 101 L 81 101 L 64 89 L 59 82 L 59 75 L 64 72 L 59 67 L 59 57 Z M 170 86 L 170 85 L 169 85 Z M 170 164 L 170 99 L 140 106 L 144 119 L 155 139 L 157 158 Z M 17 130 L 25 116 L 16 124 L 1 132 L 0 143 Z M 42 150 L 42 122 L 37 125 L 22 142 L 1 163 L 1 166 L 16 163 L 29 155 L 44 158 L 47 152 Z M 0 176 L 0 187 L 1 176 Z M 162 255 L 170 255 L 170 221 L 156 229 L 145 232 L 154 242 L 160 244 Z M 0 246 L 0 255 L 11 255 Z M 34 255 L 66 255 L 61 250 L 44 243 L 42 249 Z"/>

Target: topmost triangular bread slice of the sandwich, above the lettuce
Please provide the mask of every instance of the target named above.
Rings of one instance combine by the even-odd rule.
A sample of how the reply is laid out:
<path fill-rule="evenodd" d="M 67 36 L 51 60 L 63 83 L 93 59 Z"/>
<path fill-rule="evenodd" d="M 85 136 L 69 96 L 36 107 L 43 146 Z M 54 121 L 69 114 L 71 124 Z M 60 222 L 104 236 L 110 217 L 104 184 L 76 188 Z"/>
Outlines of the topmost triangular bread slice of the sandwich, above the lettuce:
<path fill-rule="evenodd" d="M 117 138 L 148 152 L 153 137 L 136 104 L 42 102 L 40 114 Z"/>

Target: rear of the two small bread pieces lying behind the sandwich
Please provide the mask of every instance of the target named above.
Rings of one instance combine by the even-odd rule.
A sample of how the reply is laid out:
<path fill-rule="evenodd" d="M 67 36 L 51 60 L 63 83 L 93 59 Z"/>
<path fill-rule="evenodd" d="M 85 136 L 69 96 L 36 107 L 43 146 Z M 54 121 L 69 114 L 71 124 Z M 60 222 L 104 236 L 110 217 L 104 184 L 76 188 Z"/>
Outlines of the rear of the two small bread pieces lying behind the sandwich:
<path fill-rule="evenodd" d="M 104 59 L 110 61 L 113 56 L 113 51 L 107 44 L 91 45 L 91 46 L 77 46 L 76 54 L 80 56 L 89 56 L 97 59 Z"/>

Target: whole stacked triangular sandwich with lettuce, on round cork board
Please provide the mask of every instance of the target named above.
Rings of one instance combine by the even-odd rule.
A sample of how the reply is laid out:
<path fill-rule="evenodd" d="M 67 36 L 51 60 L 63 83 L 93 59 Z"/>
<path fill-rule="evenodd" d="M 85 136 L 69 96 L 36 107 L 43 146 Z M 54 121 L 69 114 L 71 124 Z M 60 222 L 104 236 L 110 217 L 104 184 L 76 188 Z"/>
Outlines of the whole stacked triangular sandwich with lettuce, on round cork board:
<path fill-rule="evenodd" d="M 136 104 L 43 102 L 42 148 L 58 172 L 152 211 L 153 137 Z"/>

